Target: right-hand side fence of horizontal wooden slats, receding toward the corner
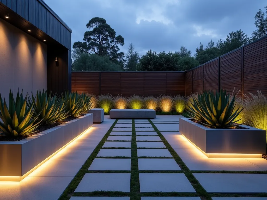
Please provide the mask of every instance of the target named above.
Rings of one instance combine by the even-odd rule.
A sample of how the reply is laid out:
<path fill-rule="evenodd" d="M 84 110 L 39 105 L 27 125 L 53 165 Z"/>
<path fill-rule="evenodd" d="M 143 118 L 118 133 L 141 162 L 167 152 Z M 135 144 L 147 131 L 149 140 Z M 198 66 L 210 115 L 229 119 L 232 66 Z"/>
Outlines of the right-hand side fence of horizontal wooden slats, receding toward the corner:
<path fill-rule="evenodd" d="M 226 89 L 267 96 L 267 36 L 185 72 L 185 93 Z"/>

